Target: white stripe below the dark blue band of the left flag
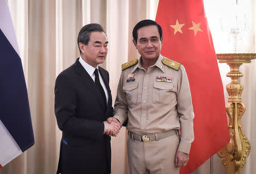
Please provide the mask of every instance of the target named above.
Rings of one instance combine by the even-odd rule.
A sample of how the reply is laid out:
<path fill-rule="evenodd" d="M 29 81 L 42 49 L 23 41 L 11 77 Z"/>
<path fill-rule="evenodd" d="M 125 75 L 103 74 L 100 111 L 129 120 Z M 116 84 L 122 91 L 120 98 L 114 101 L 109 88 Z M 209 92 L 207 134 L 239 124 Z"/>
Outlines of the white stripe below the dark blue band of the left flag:
<path fill-rule="evenodd" d="M 0 164 L 2 167 L 22 154 L 19 146 L 0 120 Z"/>

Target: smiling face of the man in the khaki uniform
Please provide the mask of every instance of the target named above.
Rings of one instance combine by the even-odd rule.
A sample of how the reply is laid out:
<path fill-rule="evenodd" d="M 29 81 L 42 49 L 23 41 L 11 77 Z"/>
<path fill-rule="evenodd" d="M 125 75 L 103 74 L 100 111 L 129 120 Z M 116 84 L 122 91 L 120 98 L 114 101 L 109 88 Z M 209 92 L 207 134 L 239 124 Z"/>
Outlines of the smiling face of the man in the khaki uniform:
<path fill-rule="evenodd" d="M 146 26 L 138 29 L 137 43 L 133 43 L 144 60 L 153 60 L 159 57 L 162 41 L 156 26 Z"/>

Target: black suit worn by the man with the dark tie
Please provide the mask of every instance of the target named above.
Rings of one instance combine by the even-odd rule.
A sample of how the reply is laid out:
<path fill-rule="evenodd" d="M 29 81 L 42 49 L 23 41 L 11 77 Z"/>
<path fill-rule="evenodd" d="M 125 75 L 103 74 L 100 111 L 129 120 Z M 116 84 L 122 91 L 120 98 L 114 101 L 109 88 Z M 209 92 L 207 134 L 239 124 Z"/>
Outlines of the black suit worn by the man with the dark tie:
<path fill-rule="evenodd" d="M 55 115 L 63 132 L 57 173 L 110 173 L 110 137 L 104 124 L 112 116 L 108 71 L 99 67 L 108 90 L 108 106 L 93 79 L 79 62 L 64 70 L 55 83 Z"/>

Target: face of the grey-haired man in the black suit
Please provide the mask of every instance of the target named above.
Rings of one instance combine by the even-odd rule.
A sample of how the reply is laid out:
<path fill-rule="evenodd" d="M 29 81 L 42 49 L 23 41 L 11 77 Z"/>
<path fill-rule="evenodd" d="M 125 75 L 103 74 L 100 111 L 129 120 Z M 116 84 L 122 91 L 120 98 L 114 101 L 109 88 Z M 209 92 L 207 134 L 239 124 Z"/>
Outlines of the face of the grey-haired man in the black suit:
<path fill-rule="evenodd" d="M 82 59 L 93 67 L 103 63 L 108 54 L 108 40 L 104 32 L 91 32 L 88 45 L 79 43 Z"/>

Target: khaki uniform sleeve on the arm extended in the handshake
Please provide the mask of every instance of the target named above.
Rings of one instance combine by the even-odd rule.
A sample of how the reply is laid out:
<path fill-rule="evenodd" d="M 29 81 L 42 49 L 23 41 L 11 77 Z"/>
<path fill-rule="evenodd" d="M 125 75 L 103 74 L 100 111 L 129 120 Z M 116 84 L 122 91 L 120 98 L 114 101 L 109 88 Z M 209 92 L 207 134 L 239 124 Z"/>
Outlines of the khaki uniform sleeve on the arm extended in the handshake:
<path fill-rule="evenodd" d="M 125 93 L 123 92 L 123 71 L 117 87 L 117 97 L 115 98 L 114 104 L 114 117 L 117 118 L 121 125 L 127 120 L 128 117 L 128 104 Z"/>

